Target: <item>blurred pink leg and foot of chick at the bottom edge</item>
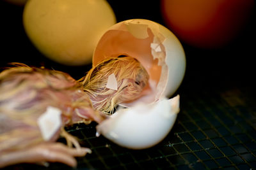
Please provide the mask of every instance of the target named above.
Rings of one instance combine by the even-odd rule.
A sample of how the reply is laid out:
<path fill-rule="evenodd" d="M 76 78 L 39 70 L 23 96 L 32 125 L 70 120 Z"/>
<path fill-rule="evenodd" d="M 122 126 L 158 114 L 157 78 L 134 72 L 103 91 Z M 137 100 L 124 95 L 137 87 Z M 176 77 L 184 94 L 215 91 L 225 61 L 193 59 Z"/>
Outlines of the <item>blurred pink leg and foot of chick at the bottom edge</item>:
<path fill-rule="evenodd" d="M 62 143 L 42 143 L 0 155 L 0 167 L 36 162 L 61 162 L 74 167 L 77 165 L 74 157 L 83 157 L 86 153 L 91 152 L 89 148 L 68 148 Z"/>

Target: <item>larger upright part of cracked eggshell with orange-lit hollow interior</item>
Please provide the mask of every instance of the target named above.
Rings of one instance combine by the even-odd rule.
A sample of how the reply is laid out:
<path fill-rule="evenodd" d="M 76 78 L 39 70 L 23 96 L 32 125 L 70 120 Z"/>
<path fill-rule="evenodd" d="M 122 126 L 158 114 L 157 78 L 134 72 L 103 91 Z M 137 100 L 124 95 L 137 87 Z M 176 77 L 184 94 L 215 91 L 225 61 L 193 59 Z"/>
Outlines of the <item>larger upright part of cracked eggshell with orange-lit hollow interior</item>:
<path fill-rule="evenodd" d="M 123 106 L 153 103 L 170 97 L 183 80 L 186 57 L 179 39 L 166 27 L 145 19 L 119 22 L 100 38 L 94 53 L 93 66 L 108 57 L 129 55 L 136 58 L 148 71 L 146 94 Z"/>

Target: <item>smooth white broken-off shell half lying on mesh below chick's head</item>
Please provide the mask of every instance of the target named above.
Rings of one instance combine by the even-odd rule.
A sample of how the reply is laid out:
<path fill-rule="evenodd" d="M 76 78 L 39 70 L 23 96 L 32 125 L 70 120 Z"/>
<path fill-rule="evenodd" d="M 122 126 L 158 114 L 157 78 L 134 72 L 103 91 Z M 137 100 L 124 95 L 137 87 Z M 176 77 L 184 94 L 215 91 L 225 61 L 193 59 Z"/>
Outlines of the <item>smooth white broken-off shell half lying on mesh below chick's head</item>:
<path fill-rule="evenodd" d="M 98 134 L 132 149 L 149 148 L 170 132 L 179 113 L 179 96 L 118 110 L 97 125 Z"/>

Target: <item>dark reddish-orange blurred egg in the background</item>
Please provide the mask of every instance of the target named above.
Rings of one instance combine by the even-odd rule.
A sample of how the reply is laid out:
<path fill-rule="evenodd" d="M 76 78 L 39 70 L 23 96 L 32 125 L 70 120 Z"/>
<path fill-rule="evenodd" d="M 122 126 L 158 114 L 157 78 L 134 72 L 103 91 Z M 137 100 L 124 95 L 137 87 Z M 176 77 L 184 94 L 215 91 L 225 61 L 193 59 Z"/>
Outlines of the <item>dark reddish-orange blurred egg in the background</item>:
<path fill-rule="evenodd" d="M 164 22 L 189 45 L 218 48 L 243 29 L 253 0 L 162 0 Z"/>

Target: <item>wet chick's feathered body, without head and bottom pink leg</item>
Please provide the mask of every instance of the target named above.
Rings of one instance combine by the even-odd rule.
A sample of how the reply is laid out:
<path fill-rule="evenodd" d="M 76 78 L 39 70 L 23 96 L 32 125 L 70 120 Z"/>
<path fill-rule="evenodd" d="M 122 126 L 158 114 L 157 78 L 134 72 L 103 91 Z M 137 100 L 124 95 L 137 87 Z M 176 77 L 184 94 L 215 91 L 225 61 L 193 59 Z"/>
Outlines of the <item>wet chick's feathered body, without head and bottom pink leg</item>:
<path fill-rule="evenodd" d="M 60 71 L 16 63 L 0 73 L 0 94 L 0 167 L 3 155 L 54 142 L 60 134 L 80 148 L 63 127 L 104 119 L 93 109 L 81 84 Z M 49 141 L 44 141 L 36 120 L 48 106 L 61 110 L 62 125 Z"/>

